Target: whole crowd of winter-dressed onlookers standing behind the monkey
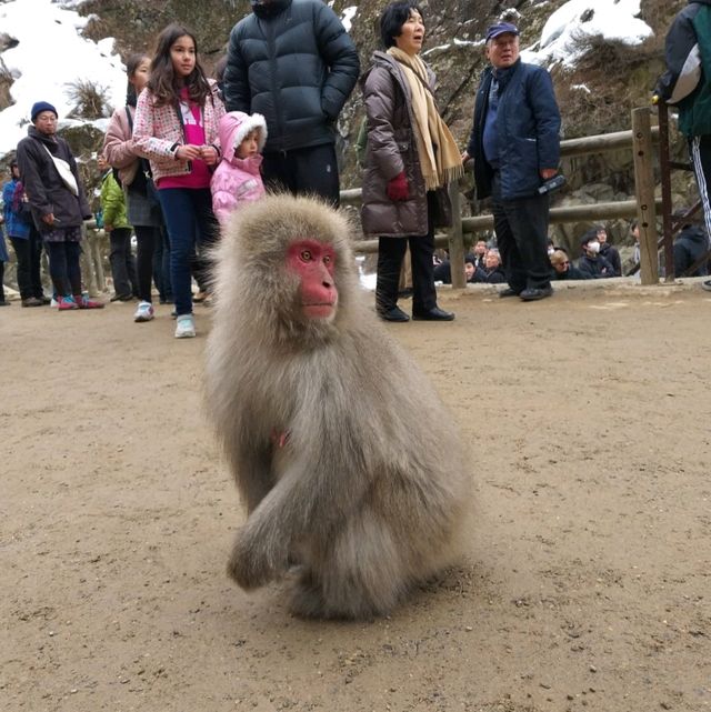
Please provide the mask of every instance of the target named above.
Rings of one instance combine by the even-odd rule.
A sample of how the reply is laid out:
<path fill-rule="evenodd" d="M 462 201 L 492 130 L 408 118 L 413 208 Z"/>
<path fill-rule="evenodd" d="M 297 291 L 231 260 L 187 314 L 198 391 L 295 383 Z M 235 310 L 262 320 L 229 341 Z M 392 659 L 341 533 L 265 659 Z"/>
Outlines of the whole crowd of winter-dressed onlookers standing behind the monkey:
<path fill-rule="evenodd" d="M 680 13 L 670 37 L 689 23 L 705 27 L 699 16 L 711 12 L 709 3 L 691 6 L 700 7 L 693 17 Z M 467 255 L 469 282 L 502 283 L 501 297 L 529 302 L 550 297 L 554 280 L 622 273 L 620 254 L 601 225 L 582 237 L 575 263 L 548 239 L 561 118 L 548 71 L 521 60 L 514 24 L 497 22 L 485 31 L 488 67 L 462 151 L 434 100 L 435 77 L 421 52 L 425 22 L 415 2 L 383 9 L 382 50 L 362 76 L 352 39 L 320 0 L 251 0 L 251 9 L 232 29 L 216 79 L 202 68 L 196 36 L 177 23 L 160 33 L 152 56 L 127 61 L 126 106 L 111 117 L 100 157 L 101 201 L 110 237 L 111 299 L 137 299 L 137 322 L 154 317 L 154 283 L 160 301 L 174 303 L 174 335 L 196 335 L 193 303 L 211 299 L 206 254 L 220 239 L 220 225 L 244 202 L 267 190 L 287 190 L 338 207 L 336 123 L 359 77 L 365 107 L 359 138 L 361 221 L 364 234 L 379 239 L 375 309 L 381 319 L 454 319 L 437 303 L 435 283 L 451 281 L 452 267 L 435 257 L 434 229 L 451 224 L 448 185 L 470 159 L 478 198 L 491 199 L 495 244 L 480 241 Z M 711 129 L 705 131 L 691 106 L 695 89 L 677 97 L 682 84 L 684 91 L 690 84 L 681 81 L 688 62 L 677 66 L 669 42 L 670 70 L 658 91 L 670 102 L 681 100 L 691 117 L 682 128 L 688 128 L 701 180 Z M 43 247 L 58 310 L 99 309 L 103 303 L 82 289 L 82 225 L 91 211 L 74 157 L 57 134 L 59 117 L 51 103 L 36 102 L 30 119 L 3 188 L 21 303 L 50 301 L 39 271 Z M 677 250 L 679 264 L 685 259 L 689 268 L 704 245 L 705 231 L 688 230 Z M 398 304 L 405 259 L 411 317 Z M 0 270 L 7 260 L 0 241 Z M 2 291 L 0 298 L 7 303 Z"/>

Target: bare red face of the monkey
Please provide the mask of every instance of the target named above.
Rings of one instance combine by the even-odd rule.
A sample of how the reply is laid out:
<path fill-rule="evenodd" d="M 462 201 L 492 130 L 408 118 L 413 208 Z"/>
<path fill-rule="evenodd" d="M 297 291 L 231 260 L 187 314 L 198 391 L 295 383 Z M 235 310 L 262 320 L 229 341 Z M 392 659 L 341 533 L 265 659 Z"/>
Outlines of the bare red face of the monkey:
<path fill-rule="evenodd" d="M 303 314 L 309 319 L 331 318 L 338 303 L 333 249 L 317 240 L 292 242 L 287 252 L 287 269 L 299 278 Z"/>

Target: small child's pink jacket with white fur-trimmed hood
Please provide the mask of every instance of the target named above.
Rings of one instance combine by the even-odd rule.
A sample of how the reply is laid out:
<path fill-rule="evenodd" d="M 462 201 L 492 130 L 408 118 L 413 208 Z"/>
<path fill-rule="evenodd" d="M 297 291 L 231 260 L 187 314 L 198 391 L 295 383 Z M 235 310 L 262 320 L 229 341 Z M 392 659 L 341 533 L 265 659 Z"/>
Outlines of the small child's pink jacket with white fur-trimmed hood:
<path fill-rule="evenodd" d="M 224 224 L 232 211 L 242 202 L 258 200 L 264 194 L 260 174 L 262 157 L 238 158 L 234 152 L 254 129 L 259 132 L 259 151 L 267 141 L 267 122 L 261 113 L 251 117 L 241 111 L 230 111 L 220 119 L 220 146 L 222 160 L 212 174 L 212 210 L 220 224 Z"/>

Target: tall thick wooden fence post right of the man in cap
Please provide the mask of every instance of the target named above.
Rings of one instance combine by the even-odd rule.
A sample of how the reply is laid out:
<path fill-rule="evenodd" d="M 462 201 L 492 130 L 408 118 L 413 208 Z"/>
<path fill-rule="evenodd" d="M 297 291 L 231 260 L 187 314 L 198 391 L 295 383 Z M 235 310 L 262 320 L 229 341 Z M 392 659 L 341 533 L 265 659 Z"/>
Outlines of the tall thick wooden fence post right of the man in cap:
<path fill-rule="evenodd" d="M 642 284 L 659 284 L 657 207 L 654 204 L 654 151 L 651 110 L 632 109 L 634 193 L 640 225 L 640 277 Z"/>

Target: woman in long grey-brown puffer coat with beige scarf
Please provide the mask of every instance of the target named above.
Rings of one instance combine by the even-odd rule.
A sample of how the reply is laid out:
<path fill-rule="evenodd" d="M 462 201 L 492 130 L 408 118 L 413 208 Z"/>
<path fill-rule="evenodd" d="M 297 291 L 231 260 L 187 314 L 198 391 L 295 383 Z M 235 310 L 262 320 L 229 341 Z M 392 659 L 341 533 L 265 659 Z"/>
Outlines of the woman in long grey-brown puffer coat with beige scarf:
<path fill-rule="evenodd" d="M 408 243 L 412 255 L 412 318 L 451 321 L 437 305 L 434 225 L 450 224 L 449 181 L 462 174 L 457 143 L 434 104 L 434 76 L 420 59 L 422 13 L 392 2 L 380 18 L 387 52 L 374 52 L 362 84 L 368 120 L 363 232 L 379 238 L 375 305 L 385 321 L 409 321 L 398 307 Z"/>

